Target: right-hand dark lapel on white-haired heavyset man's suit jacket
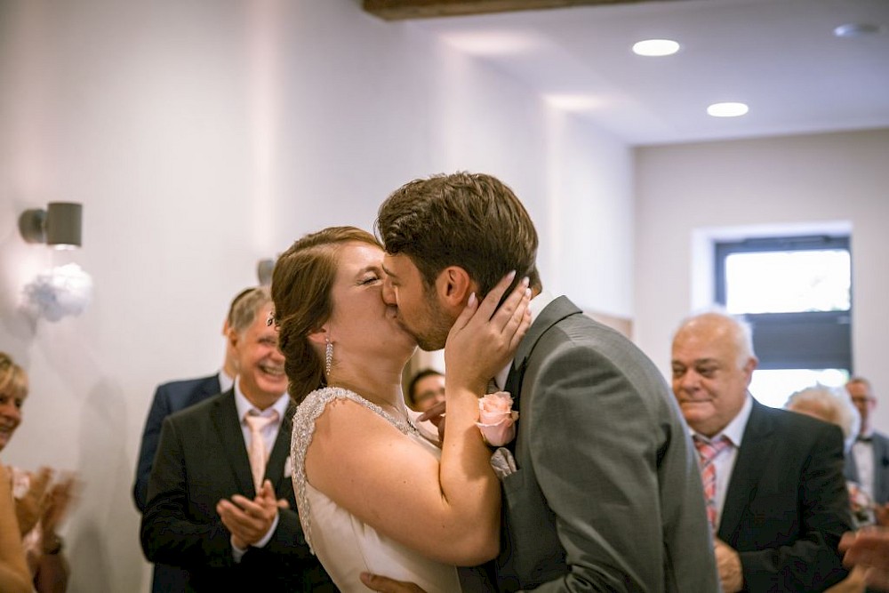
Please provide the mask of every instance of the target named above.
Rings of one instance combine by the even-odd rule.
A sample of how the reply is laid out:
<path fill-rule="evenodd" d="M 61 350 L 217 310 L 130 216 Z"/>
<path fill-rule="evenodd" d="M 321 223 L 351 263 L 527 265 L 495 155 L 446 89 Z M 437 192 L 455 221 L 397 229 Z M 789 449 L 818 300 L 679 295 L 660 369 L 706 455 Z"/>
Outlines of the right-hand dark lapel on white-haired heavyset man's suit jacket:
<path fill-rule="evenodd" d="M 734 545 L 744 510 L 749 508 L 749 499 L 757 492 L 761 469 L 773 449 L 773 437 L 772 420 L 765 406 L 754 400 L 719 520 L 719 539 L 729 545 Z"/>

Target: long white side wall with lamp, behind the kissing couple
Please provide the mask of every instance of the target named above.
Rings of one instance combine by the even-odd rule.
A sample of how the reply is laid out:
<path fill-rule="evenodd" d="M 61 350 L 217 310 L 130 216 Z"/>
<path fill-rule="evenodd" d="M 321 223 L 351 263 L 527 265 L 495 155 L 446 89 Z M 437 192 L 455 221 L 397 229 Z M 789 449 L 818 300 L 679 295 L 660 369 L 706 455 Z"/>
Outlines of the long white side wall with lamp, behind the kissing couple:
<path fill-rule="evenodd" d="M 631 313 L 629 149 L 355 0 L 7 0 L 0 80 L 0 349 L 31 376 L 2 460 L 83 479 L 72 591 L 148 590 L 130 488 L 150 398 L 219 365 L 256 260 L 371 228 L 404 181 L 500 176 L 537 222 L 544 282 Z M 20 239 L 20 212 L 52 200 L 84 204 L 79 252 Z M 68 260 L 90 308 L 28 317 L 22 285 Z"/>

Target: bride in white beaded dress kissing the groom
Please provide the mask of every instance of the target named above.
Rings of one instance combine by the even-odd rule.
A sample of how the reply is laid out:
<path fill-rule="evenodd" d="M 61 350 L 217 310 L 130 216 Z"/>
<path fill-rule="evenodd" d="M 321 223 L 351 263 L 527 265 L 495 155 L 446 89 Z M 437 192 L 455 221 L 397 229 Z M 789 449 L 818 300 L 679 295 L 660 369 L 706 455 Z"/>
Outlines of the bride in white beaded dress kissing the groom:
<path fill-rule="evenodd" d="M 494 311 L 512 275 L 469 299 L 445 347 L 447 422 L 439 449 L 404 405 L 416 344 L 382 297 L 383 250 L 354 227 L 304 236 L 277 260 L 274 321 L 286 357 L 293 485 L 310 547 L 344 591 L 365 572 L 459 591 L 456 565 L 499 549 L 500 485 L 475 426 L 478 397 L 530 324 L 525 284 Z"/>

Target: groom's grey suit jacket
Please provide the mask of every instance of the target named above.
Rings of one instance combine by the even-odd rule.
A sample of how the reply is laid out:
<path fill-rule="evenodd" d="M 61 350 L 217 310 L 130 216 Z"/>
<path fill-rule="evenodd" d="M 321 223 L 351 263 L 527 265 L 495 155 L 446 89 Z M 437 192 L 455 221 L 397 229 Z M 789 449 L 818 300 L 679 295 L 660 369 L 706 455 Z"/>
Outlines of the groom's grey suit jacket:
<path fill-rule="evenodd" d="M 501 590 L 719 590 L 697 453 L 642 351 L 560 297 L 519 345 L 506 390 L 521 415 Z"/>

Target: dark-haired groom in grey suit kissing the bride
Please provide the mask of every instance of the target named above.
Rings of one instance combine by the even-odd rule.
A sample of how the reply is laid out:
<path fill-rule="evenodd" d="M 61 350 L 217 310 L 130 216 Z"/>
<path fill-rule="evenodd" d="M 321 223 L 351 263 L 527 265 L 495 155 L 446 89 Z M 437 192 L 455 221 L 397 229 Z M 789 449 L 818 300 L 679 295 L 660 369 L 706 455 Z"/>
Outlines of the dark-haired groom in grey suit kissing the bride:
<path fill-rule="evenodd" d="M 380 206 L 384 299 L 425 350 L 469 295 L 528 276 L 533 325 L 494 381 L 521 412 L 504 479 L 501 591 L 719 589 L 696 453 L 661 373 L 620 333 L 542 290 L 537 232 L 501 181 L 414 180 Z M 402 583 L 374 576 L 372 587 Z M 416 589 L 412 589 L 416 590 Z"/>

